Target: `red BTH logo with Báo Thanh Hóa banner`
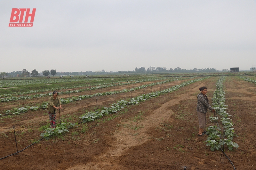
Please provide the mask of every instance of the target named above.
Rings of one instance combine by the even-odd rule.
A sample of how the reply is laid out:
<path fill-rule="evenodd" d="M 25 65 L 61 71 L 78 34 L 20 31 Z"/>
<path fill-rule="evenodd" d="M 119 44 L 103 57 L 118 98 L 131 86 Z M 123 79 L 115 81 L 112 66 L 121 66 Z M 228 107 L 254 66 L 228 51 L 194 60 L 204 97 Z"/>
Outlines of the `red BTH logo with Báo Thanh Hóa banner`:
<path fill-rule="evenodd" d="M 23 22 L 25 12 L 26 12 L 26 15 L 25 15 L 25 20 Z M 20 9 L 12 8 L 9 26 L 20 26 L 20 27 L 33 26 L 36 8 L 33 8 L 32 13 L 29 13 L 29 12 L 30 12 L 30 8 L 20 8 Z M 28 17 L 30 17 L 29 23 L 28 23 Z"/>

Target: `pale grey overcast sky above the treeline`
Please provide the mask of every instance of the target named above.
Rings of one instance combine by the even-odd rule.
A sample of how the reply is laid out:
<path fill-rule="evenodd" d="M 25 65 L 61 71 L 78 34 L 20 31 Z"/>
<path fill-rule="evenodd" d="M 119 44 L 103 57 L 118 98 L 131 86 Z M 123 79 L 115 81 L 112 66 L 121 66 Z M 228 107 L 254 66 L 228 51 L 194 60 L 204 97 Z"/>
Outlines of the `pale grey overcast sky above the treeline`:
<path fill-rule="evenodd" d="M 12 8 L 36 8 L 33 27 L 9 27 Z M 1 0 L 0 21 L 0 72 L 256 65 L 256 0 Z"/>

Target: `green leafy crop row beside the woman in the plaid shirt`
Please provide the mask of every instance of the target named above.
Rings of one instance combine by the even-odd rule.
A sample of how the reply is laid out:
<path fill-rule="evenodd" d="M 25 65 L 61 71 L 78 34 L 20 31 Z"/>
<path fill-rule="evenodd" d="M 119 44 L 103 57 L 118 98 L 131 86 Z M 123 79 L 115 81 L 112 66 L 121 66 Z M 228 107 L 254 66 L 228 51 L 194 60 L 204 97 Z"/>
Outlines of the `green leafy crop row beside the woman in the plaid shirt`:
<path fill-rule="evenodd" d="M 233 137 L 238 137 L 236 133 L 234 132 L 233 122 L 232 119 L 228 118 L 229 115 L 226 112 L 227 105 L 225 105 L 225 92 L 223 91 L 223 81 L 225 80 L 225 77 L 221 77 L 216 84 L 217 89 L 213 93 L 212 97 L 212 105 L 213 108 L 216 111 L 216 114 L 220 116 L 220 119 L 217 115 L 210 116 L 209 119 L 211 122 L 216 122 L 218 124 L 217 126 L 209 126 L 207 129 L 207 134 L 209 135 L 206 142 L 206 146 L 210 146 L 211 151 L 219 150 L 221 145 L 223 145 L 223 139 L 224 144 L 228 146 L 228 149 L 230 151 L 233 150 L 233 147 L 238 148 L 238 144 L 235 142 L 232 142 Z M 220 120 L 222 126 L 220 127 L 220 124 L 218 123 Z M 221 134 L 221 129 L 225 131 L 225 136 Z M 222 137 L 224 138 L 221 138 Z"/>

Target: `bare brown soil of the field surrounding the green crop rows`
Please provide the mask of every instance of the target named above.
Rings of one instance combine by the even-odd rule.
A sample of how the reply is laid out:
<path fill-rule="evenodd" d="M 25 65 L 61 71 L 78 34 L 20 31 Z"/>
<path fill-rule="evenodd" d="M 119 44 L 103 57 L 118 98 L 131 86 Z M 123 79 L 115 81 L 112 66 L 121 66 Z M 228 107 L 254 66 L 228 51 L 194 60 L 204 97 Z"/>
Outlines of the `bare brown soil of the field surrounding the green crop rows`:
<path fill-rule="evenodd" d="M 219 170 L 234 169 L 221 152 L 211 151 L 204 141 L 207 136 L 198 137 L 198 119 L 196 115 L 196 96 L 199 87 L 208 88 L 207 96 L 212 103 L 213 92 L 219 76 L 180 87 L 136 105 L 129 105 L 118 111 L 96 119 L 80 123 L 69 129 L 69 133 L 55 136 L 49 140 L 28 147 L 24 151 L 0 160 L 1 169 L 44 170 L 130 170 L 130 169 L 184 169 Z M 196 78 L 195 78 L 196 79 Z M 157 80 L 161 82 L 164 80 Z M 186 82 L 187 80 L 183 80 Z M 125 85 L 125 89 L 139 87 L 152 82 Z M 181 83 L 181 82 L 180 82 Z M 110 107 L 116 101 L 130 99 L 142 94 L 164 90 L 177 85 L 170 81 L 161 85 L 148 86 L 135 91 L 113 95 L 94 96 L 63 105 L 60 111 L 61 121 L 81 122 L 81 115 L 97 108 Z M 226 77 L 223 82 L 226 110 L 232 117 L 234 137 L 239 147 L 225 153 L 236 170 L 254 169 L 256 125 L 256 85 L 237 76 Z M 115 89 L 114 89 L 115 88 Z M 77 88 L 79 89 L 79 88 Z M 121 91 L 124 86 L 107 87 L 71 96 L 90 93 Z M 76 89 L 75 89 L 76 90 Z M 60 94 L 68 98 L 68 94 Z M 97 103 L 96 103 L 97 99 Z M 48 100 L 47 97 L 28 99 L 25 106 L 35 106 Z M 1 102 L 0 113 L 10 108 L 23 106 L 23 100 Z M 207 117 L 212 113 L 208 112 Z M 49 116 L 44 109 L 29 110 L 20 115 L 2 116 L 0 119 L 0 158 L 15 153 L 15 127 L 18 150 L 41 139 L 41 133 L 49 127 Z M 57 114 L 57 122 L 59 115 Z M 58 122 L 59 123 L 59 122 Z M 214 123 L 207 120 L 207 126 Z"/>

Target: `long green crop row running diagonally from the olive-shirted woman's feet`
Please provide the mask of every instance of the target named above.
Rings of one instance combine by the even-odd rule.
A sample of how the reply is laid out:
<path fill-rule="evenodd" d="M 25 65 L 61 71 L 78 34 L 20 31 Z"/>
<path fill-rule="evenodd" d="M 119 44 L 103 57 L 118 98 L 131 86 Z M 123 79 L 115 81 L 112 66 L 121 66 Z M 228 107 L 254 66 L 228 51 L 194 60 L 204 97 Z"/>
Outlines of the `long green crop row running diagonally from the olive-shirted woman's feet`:
<path fill-rule="evenodd" d="M 112 104 L 112 106 L 110 106 L 110 107 L 103 107 L 103 109 L 98 109 L 97 111 L 94 111 L 94 112 L 87 112 L 87 113 L 81 115 L 81 117 L 79 117 L 79 118 L 82 119 L 83 123 L 91 122 L 91 121 L 94 121 L 97 118 L 101 118 L 104 115 L 106 116 L 106 115 L 109 115 L 109 114 L 117 113 L 118 111 L 120 111 L 121 109 L 123 109 L 124 107 L 126 107 L 128 105 L 139 104 L 142 101 L 151 99 L 153 97 L 157 97 L 157 96 L 159 96 L 161 94 L 164 94 L 164 93 L 169 93 L 169 92 L 178 90 L 180 87 L 189 85 L 191 83 L 194 83 L 196 81 L 200 81 L 200 80 L 203 80 L 203 79 L 206 79 L 206 78 L 209 78 L 209 77 L 189 80 L 187 82 L 181 83 L 180 85 L 175 85 L 175 86 L 172 86 L 171 88 L 168 88 L 168 89 L 165 89 L 165 90 L 162 90 L 162 91 L 158 91 L 158 92 L 151 92 L 151 93 L 148 93 L 148 94 L 143 94 L 143 95 L 134 97 L 134 98 L 129 99 L 129 100 L 120 100 L 117 103 Z M 62 129 L 61 129 L 62 131 L 60 131 L 60 132 L 58 132 L 58 130 L 56 130 L 57 127 L 56 127 L 56 129 L 47 128 L 47 129 L 45 129 L 45 133 L 41 133 L 41 136 L 46 138 L 46 139 L 49 139 L 50 136 L 52 136 L 52 135 L 65 133 L 65 131 L 63 131 L 63 128 L 65 129 L 65 127 L 67 127 L 67 126 L 62 126 Z M 60 127 L 58 127 L 58 129 L 60 129 Z"/>

